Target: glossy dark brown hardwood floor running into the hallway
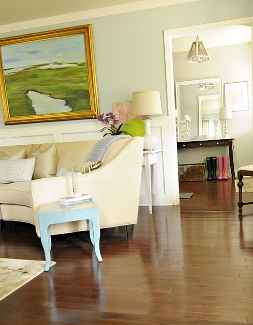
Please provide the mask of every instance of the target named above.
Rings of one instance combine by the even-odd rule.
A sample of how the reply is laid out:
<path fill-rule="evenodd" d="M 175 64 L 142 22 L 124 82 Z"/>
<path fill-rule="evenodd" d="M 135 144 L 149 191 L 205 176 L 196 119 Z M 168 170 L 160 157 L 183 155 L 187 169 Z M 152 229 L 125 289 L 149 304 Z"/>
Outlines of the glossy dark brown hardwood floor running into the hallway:
<path fill-rule="evenodd" d="M 140 207 L 133 238 L 52 237 L 49 272 L 0 301 L 1 325 L 253 324 L 253 205 L 238 219 L 234 181 L 180 183 L 179 206 Z M 253 198 L 253 193 L 244 198 Z M 31 225 L 0 232 L 0 256 L 44 259 Z"/>

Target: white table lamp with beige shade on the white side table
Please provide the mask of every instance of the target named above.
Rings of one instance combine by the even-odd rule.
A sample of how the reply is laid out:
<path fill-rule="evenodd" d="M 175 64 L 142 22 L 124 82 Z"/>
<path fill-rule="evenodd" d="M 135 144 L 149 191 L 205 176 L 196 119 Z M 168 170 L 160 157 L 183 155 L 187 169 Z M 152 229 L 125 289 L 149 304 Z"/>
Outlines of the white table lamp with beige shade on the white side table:
<path fill-rule="evenodd" d="M 146 115 L 143 120 L 145 124 L 144 150 L 156 150 L 158 139 L 151 133 L 150 115 L 162 114 L 160 92 L 155 90 L 133 92 L 131 114 Z"/>

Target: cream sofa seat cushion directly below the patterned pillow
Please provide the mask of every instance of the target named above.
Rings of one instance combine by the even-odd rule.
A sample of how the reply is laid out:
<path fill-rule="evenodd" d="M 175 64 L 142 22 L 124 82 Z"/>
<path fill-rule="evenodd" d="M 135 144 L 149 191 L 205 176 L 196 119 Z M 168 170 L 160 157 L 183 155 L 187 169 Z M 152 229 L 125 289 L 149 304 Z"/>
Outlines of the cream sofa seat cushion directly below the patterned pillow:
<path fill-rule="evenodd" d="M 31 182 L 0 184 L 0 203 L 31 207 Z"/>

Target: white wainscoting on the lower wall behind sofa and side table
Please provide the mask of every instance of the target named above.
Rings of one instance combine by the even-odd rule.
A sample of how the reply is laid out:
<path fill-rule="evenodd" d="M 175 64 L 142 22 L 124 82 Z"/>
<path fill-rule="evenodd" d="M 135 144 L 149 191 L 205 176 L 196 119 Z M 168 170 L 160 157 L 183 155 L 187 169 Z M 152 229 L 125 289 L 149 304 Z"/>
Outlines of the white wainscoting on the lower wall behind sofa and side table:
<path fill-rule="evenodd" d="M 68 142 L 68 141 L 85 141 L 85 140 L 99 140 L 102 134 L 99 132 L 101 123 L 97 121 L 67 124 L 57 126 L 43 126 L 43 127 L 24 127 L 13 128 L 9 130 L 0 130 L 0 146 L 11 146 L 21 144 L 33 143 L 51 143 L 51 142 Z M 170 148 L 169 144 L 169 118 L 156 117 L 151 121 L 152 133 L 158 137 L 159 149 L 162 152 L 159 154 L 158 171 L 159 171 L 159 198 L 160 205 L 178 204 L 173 196 L 171 190 L 171 183 L 176 175 L 171 175 L 170 168 Z M 153 184 L 156 181 L 153 175 Z M 154 187 L 155 188 L 155 187 Z M 175 188 L 174 188 L 175 190 Z M 156 193 L 153 194 L 153 205 L 156 204 Z M 142 170 L 140 206 L 147 206 L 147 187 L 146 175 L 144 169 Z"/>

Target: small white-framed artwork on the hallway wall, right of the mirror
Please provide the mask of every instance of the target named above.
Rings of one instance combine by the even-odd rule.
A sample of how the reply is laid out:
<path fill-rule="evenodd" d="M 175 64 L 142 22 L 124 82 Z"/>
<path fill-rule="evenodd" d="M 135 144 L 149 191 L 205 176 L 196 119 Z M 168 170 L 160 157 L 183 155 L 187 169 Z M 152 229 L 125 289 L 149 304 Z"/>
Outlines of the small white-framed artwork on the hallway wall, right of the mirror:
<path fill-rule="evenodd" d="M 248 82 L 225 83 L 225 105 L 232 111 L 248 110 Z"/>

